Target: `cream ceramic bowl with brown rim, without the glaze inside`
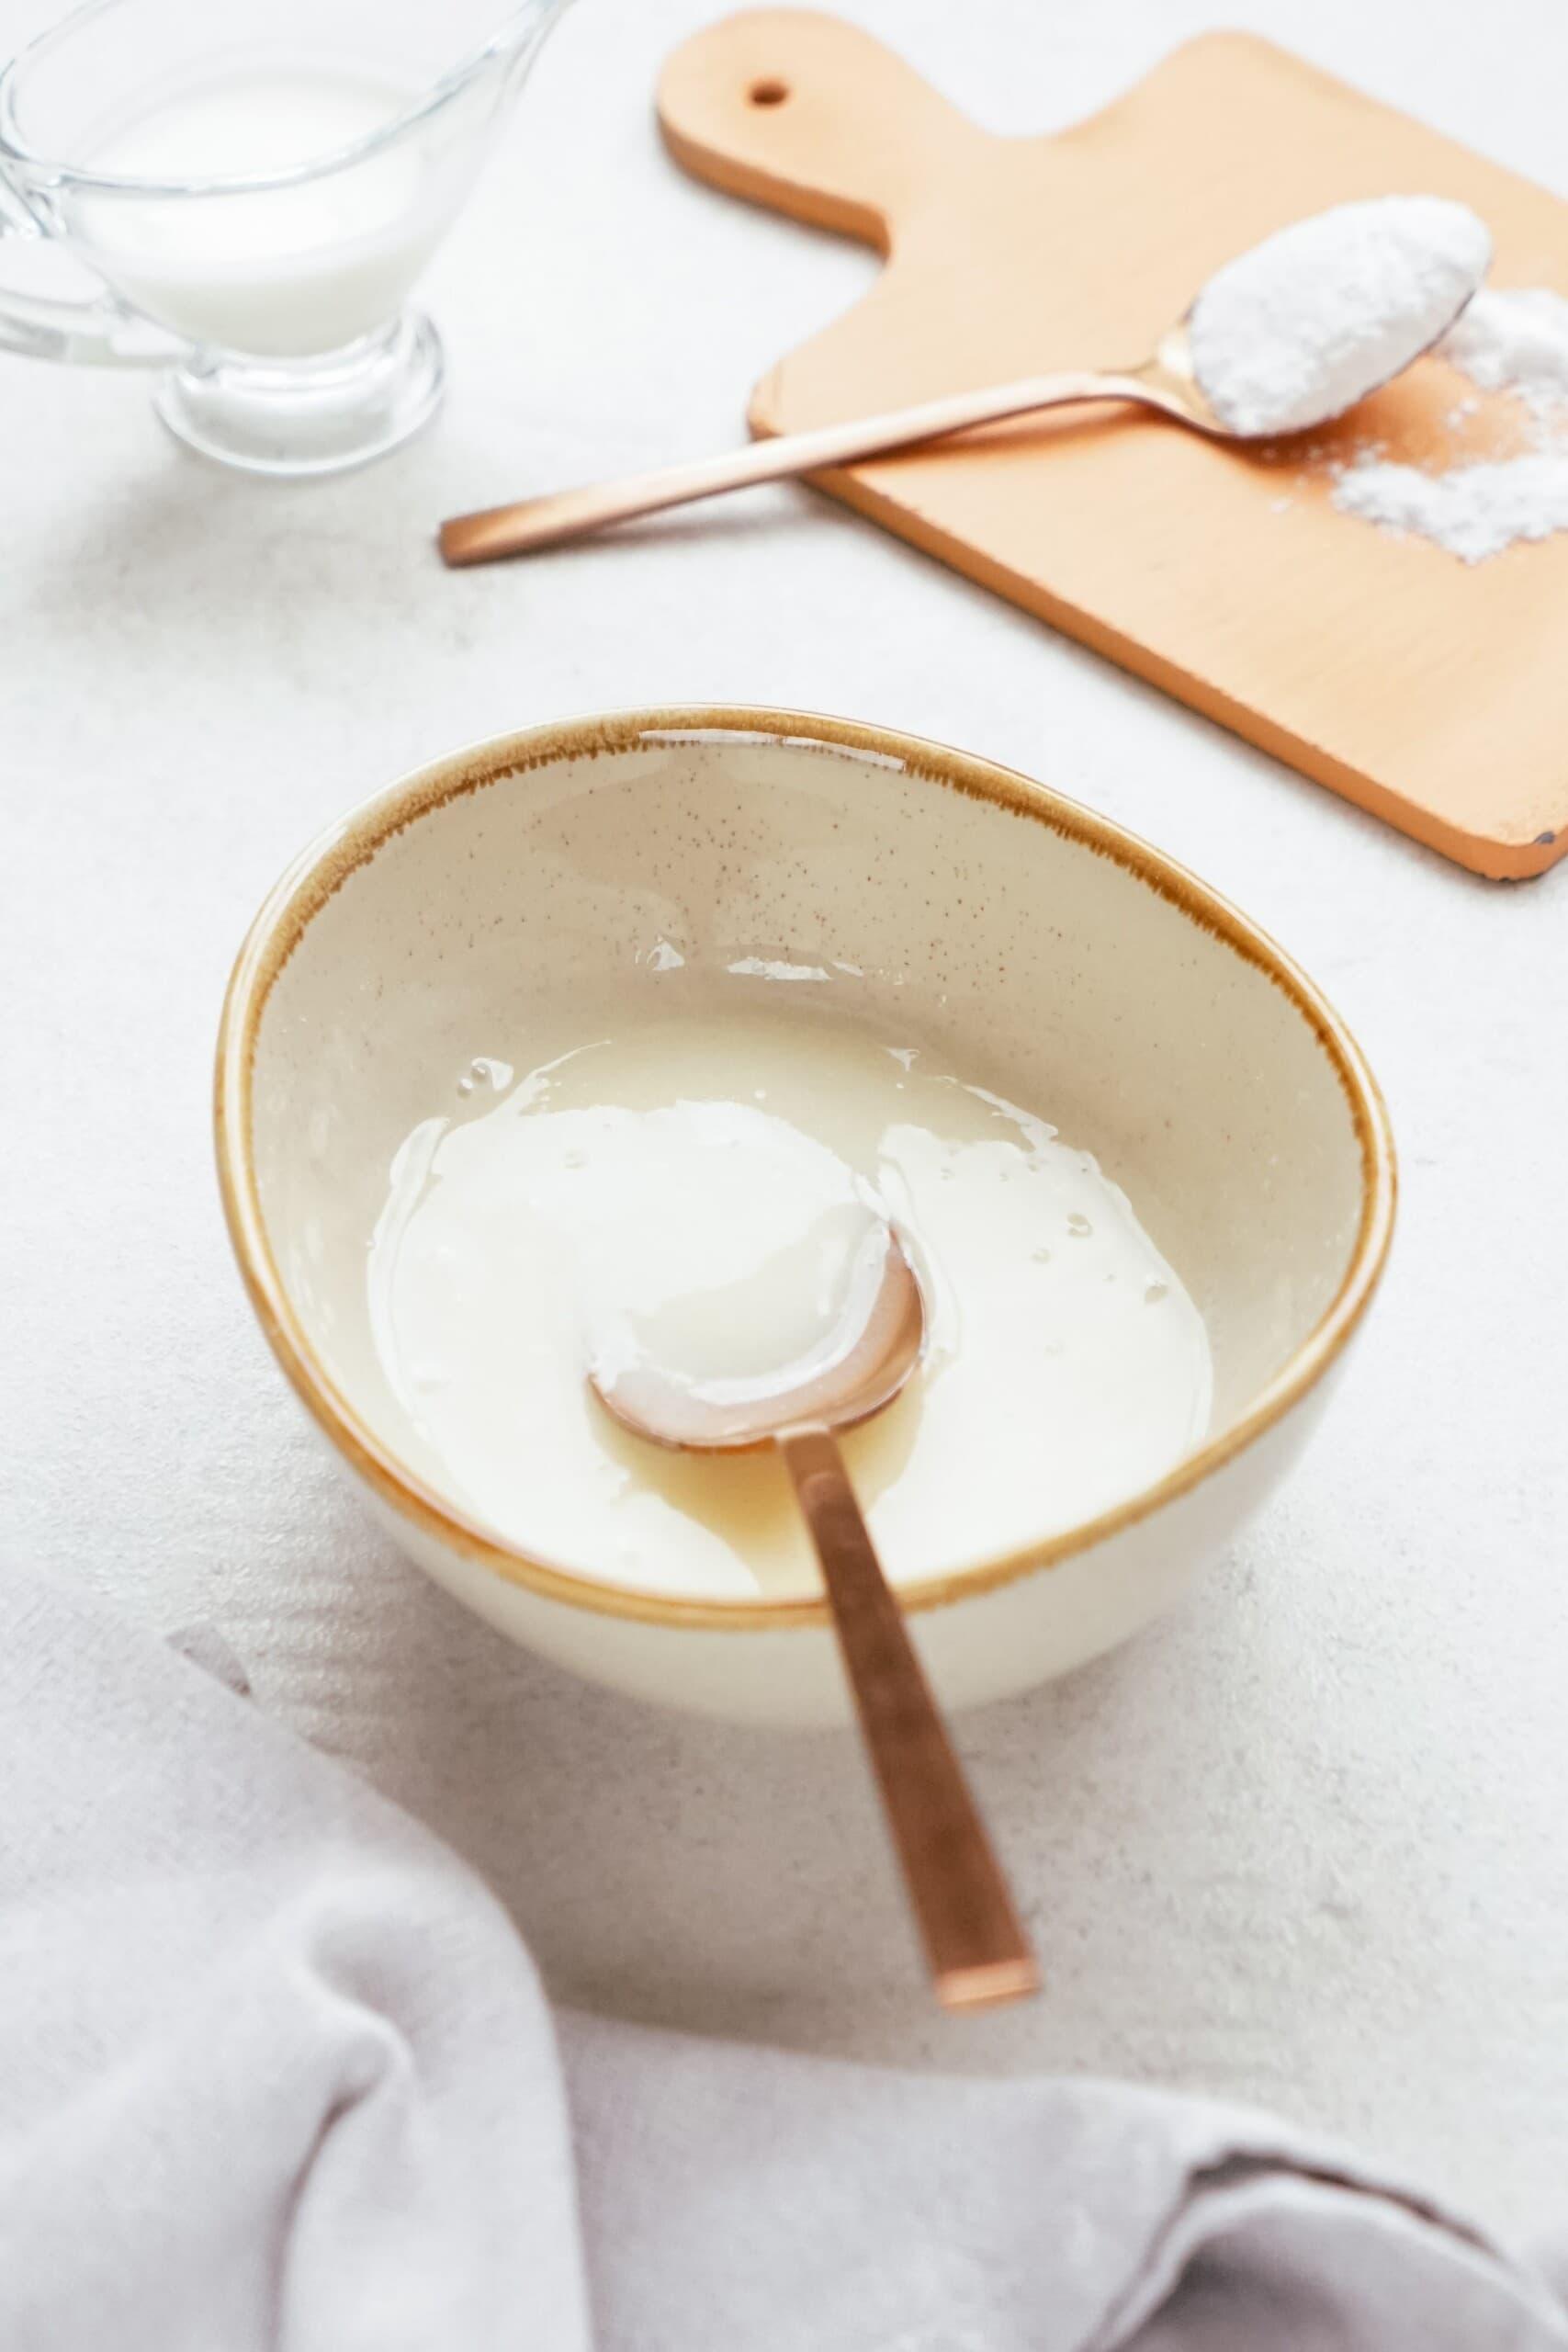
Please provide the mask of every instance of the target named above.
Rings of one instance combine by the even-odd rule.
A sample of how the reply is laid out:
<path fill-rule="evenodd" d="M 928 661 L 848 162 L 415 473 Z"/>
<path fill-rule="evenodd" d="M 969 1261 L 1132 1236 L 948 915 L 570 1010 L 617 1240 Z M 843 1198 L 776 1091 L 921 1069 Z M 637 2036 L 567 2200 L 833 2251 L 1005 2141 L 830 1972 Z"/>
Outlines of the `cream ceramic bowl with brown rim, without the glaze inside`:
<path fill-rule="evenodd" d="M 1133 1197 L 1213 1343 L 1208 1439 L 1119 1508 L 903 1585 L 950 1708 L 1164 1609 L 1312 1430 L 1378 1284 L 1394 1155 L 1366 1063 L 1262 931 L 985 760 L 785 710 L 646 710 L 440 760 L 355 809 L 252 927 L 219 1042 L 228 1223 L 261 1324 L 369 1505 L 512 1639 L 712 1715 L 846 1712 L 827 1606 L 649 1592 L 465 1517 L 397 1437 L 364 1247 L 402 1136 L 529 993 L 658 943 L 785 943 L 1044 1110 Z M 663 953 L 658 948 L 658 953 Z M 520 1444 L 527 1432 L 520 1430 Z"/>

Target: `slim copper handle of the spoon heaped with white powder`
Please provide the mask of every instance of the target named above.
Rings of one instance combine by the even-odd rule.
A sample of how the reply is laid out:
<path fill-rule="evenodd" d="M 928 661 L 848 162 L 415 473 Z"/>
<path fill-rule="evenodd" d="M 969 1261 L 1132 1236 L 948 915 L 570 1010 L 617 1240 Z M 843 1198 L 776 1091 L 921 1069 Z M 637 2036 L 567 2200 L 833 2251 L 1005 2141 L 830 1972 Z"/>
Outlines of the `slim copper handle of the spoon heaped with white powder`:
<path fill-rule="evenodd" d="M 912 409 L 884 409 L 879 416 L 856 416 L 842 426 L 816 426 L 811 433 L 773 433 L 726 449 L 722 456 L 663 466 L 658 473 L 635 473 L 621 482 L 590 482 L 583 489 L 557 489 L 543 499 L 515 506 L 487 506 L 477 515 L 451 515 L 440 529 L 440 550 L 449 564 L 491 564 L 501 555 L 529 555 L 567 539 L 585 539 L 607 522 L 654 515 L 665 506 L 689 506 L 693 499 L 717 499 L 726 489 L 752 482 L 783 482 L 795 473 L 818 473 L 823 466 L 846 466 L 858 456 L 907 449 L 912 442 L 966 433 L 971 426 L 1001 423 L 1032 409 L 1056 409 L 1072 400 L 1150 400 L 1150 388 L 1135 376 L 1095 372 L 1060 376 L 1025 376 L 1020 383 L 990 383 L 945 400 L 922 400 Z M 1161 402 L 1154 400 L 1159 407 Z"/>

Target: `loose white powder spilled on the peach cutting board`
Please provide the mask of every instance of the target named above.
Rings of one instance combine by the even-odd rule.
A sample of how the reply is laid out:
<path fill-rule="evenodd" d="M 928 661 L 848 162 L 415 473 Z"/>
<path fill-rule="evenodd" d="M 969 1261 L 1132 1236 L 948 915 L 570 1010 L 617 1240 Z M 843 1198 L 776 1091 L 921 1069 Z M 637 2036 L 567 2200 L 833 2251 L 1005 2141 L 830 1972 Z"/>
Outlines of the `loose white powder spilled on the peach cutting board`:
<path fill-rule="evenodd" d="M 1439 353 L 1481 390 L 1514 397 L 1523 449 L 1436 470 L 1368 452 L 1340 470 L 1333 503 L 1467 564 L 1568 532 L 1568 301 L 1547 287 L 1486 287 Z"/>

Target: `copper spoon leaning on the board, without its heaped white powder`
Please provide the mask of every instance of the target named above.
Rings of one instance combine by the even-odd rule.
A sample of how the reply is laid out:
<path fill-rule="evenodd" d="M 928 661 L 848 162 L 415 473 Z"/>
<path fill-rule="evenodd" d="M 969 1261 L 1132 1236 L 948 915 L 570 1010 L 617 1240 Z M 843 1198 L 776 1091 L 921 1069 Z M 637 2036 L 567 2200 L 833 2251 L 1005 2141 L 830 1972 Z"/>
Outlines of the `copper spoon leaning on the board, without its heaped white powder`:
<path fill-rule="evenodd" d="M 1375 209 L 1380 200 L 1366 207 Z M 1458 207 L 1453 207 L 1458 209 Z M 1309 223 L 1295 223 L 1302 228 Z M 1279 240 L 1293 230 L 1279 230 Z M 1479 285 L 1486 270 L 1486 230 L 1476 221 L 1479 235 Z M 1276 240 L 1265 240 L 1274 245 Z M 1262 252 L 1255 247 L 1253 252 Z M 1204 294 L 1229 270 L 1248 266 L 1225 263 L 1208 280 Z M 1328 393 L 1321 412 L 1291 416 L 1291 430 L 1328 423 L 1345 409 L 1366 400 L 1392 376 L 1443 339 L 1469 301 L 1474 285 L 1455 287 L 1453 310 L 1432 322 L 1422 318 L 1415 339 L 1399 350 L 1373 360 L 1371 372 L 1356 379 L 1354 390 L 1342 383 Z M 1175 327 L 1159 339 L 1154 355 L 1128 369 L 1086 369 L 1056 376 L 1025 376 L 1018 383 L 992 383 L 971 393 L 950 393 L 945 400 L 924 400 L 910 409 L 886 409 L 882 416 L 856 416 L 839 426 L 818 426 L 811 433 L 778 433 L 769 440 L 750 442 L 745 449 L 729 449 L 722 456 L 696 459 L 684 466 L 665 466 L 656 473 L 637 473 L 621 482 L 592 482 L 583 489 L 559 489 L 543 499 L 522 499 L 515 506 L 489 506 L 475 515 L 454 515 L 440 529 L 440 550 L 449 564 L 489 564 L 503 555 L 527 555 L 534 548 L 552 548 L 567 539 L 583 539 L 604 529 L 607 522 L 628 522 L 632 515 L 654 515 L 665 506 L 686 506 L 693 499 L 717 499 L 726 489 L 745 489 L 752 482 L 780 482 L 797 473 L 818 473 L 827 466 L 849 466 L 856 459 L 879 456 L 889 449 L 907 449 L 917 442 L 943 440 L 950 433 L 966 433 L 971 426 L 1001 423 L 1006 416 L 1027 416 L 1037 409 L 1070 407 L 1079 400 L 1131 400 L 1138 407 L 1157 409 L 1175 423 L 1206 433 L 1211 440 L 1251 442 L 1276 437 L 1279 421 L 1258 428 L 1227 423 L 1206 397 L 1192 358 L 1192 313 L 1204 299 L 1199 294 Z"/>

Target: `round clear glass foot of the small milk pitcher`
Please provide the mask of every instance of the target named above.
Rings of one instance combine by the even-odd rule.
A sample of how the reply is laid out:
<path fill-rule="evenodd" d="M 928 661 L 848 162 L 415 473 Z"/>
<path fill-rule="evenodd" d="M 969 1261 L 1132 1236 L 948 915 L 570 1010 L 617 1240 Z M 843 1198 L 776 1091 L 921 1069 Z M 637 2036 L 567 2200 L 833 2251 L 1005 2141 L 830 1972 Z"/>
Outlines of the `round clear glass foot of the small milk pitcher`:
<path fill-rule="evenodd" d="M 317 360 L 209 353 L 172 369 L 153 405 L 176 440 L 247 473 L 341 473 L 386 456 L 442 397 L 442 341 L 404 313 Z"/>

